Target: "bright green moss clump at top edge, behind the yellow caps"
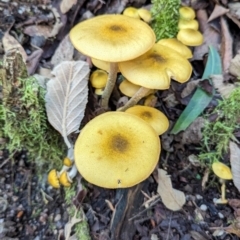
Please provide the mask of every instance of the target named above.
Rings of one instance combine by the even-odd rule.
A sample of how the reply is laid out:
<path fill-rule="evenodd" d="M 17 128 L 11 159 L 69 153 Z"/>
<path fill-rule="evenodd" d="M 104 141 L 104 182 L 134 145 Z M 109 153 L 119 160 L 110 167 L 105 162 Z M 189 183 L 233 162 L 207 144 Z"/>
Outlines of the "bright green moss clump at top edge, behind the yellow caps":
<path fill-rule="evenodd" d="M 178 32 L 180 0 L 152 0 L 152 28 L 157 41 L 176 37 Z"/>

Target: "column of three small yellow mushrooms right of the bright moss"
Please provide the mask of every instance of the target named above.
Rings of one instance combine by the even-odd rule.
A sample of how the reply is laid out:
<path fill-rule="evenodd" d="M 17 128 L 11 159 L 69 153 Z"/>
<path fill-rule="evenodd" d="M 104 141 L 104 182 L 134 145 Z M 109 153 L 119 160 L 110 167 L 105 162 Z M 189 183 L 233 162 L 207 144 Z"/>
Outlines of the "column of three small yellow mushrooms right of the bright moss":
<path fill-rule="evenodd" d="M 191 7 L 181 7 L 179 15 L 177 39 L 187 46 L 201 45 L 203 35 L 198 31 L 199 24 L 195 20 L 195 11 Z"/>

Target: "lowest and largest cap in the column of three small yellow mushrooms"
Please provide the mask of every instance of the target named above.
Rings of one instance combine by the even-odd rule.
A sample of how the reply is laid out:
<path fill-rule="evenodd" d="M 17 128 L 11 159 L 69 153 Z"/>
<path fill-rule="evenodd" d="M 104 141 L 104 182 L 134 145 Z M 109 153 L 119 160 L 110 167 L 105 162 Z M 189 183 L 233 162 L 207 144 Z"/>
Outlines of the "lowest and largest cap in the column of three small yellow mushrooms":
<path fill-rule="evenodd" d="M 199 46 L 203 43 L 203 35 L 194 29 L 180 29 L 177 39 L 187 46 Z"/>

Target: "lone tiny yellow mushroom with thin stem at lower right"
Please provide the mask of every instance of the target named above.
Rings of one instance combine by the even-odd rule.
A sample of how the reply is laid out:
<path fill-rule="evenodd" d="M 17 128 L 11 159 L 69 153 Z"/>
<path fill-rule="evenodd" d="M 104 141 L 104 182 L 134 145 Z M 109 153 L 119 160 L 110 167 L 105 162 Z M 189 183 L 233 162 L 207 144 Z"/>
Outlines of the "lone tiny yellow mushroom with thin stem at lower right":
<path fill-rule="evenodd" d="M 226 180 L 232 179 L 231 169 L 227 165 L 225 165 L 221 162 L 214 162 L 212 164 L 212 170 L 219 177 L 220 182 L 222 184 L 221 198 L 217 199 L 216 203 L 226 204 L 228 202 L 228 200 L 226 199 L 226 196 L 225 196 L 225 192 L 226 192 L 226 183 L 225 182 L 226 182 Z"/>

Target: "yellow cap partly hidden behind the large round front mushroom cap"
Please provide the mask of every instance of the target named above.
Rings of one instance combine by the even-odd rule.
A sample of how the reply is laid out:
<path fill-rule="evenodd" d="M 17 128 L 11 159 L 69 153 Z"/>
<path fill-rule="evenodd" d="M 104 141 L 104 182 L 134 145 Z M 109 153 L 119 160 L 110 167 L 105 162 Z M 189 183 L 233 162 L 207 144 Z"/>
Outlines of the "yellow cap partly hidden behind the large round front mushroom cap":
<path fill-rule="evenodd" d="M 158 135 L 163 134 L 169 128 L 169 121 L 165 114 L 156 108 L 149 106 L 137 105 L 131 108 L 128 108 L 126 113 L 134 114 L 148 124 L 150 124 Z"/>

